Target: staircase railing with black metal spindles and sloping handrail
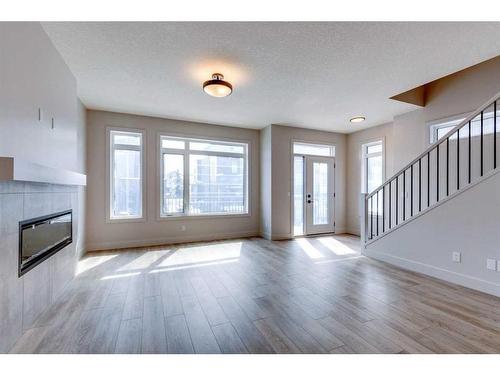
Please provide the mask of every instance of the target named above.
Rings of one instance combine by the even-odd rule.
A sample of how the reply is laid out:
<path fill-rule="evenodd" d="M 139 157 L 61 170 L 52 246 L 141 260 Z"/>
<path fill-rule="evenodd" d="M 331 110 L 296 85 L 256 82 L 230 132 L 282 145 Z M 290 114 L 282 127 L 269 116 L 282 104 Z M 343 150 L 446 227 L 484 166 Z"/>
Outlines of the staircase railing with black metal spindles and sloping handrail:
<path fill-rule="evenodd" d="M 500 93 L 364 196 L 361 235 L 365 246 L 498 171 L 499 105 Z"/>

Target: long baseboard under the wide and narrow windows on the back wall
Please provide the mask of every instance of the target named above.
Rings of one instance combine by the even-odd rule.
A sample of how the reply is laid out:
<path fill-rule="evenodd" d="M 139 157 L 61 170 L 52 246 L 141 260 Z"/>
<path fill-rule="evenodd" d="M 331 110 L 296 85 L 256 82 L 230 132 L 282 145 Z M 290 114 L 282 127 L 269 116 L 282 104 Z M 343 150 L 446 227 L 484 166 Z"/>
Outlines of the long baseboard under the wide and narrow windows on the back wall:
<path fill-rule="evenodd" d="M 124 241 L 108 241 L 88 243 L 87 251 L 125 249 L 131 247 L 169 245 L 176 243 L 187 243 L 197 241 L 215 241 L 232 238 L 259 237 L 259 232 L 233 232 L 233 233 L 214 233 L 211 235 L 195 235 L 195 236 L 169 236 L 159 238 L 148 238 L 140 240 L 124 240 Z"/>

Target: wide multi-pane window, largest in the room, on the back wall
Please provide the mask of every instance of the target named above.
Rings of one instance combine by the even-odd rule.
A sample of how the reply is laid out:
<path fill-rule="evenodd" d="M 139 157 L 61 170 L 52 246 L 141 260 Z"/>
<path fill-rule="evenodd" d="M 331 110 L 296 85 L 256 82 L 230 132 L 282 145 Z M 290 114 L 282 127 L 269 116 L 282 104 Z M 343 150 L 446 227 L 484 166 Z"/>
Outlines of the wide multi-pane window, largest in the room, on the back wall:
<path fill-rule="evenodd" d="M 161 216 L 248 213 L 245 143 L 160 137 Z"/>

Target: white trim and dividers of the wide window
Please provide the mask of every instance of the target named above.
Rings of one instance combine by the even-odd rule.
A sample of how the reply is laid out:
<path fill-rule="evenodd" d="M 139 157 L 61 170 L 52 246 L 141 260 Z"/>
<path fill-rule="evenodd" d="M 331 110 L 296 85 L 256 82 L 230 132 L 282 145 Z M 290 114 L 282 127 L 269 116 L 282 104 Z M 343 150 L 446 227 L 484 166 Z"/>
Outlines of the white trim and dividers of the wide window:
<path fill-rule="evenodd" d="M 185 148 L 182 149 L 165 149 L 161 147 L 161 139 L 165 138 L 179 138 L 185 141 L 205 141 L 205 142 L 213 142 L 213 143 L 239 143 L 245 146 L 245 154 L 244 154 L 244 174 L 245 178 L 243 180 L 244 183 L 244 191 L 245 191 L 245 204 L 246 204 L 246 212 L 244 213 L 208 213 L 208 214 L 187 214 L 188 205 L 189 205 L 189 154 L 198 154 L 198 155 L 214 155 L 214 156 L 237 156 L 241 157 L 241 154 L 230 153 L 230 152 L 214 152 L 214 151 L 194 151 L 189 150 L 188 143 L 186 142 Z M 237 218 L 237 217 L 250 217 L 251 216 L 251 197 L 249 186 L 251 186 L 251 168 L 250 168 L 250 157 L 251 157 L 251 148 L 252 142 L 250 140 L 242 140 L 242 139 L 233 139 L 233 138 L 223 138 L 223 137 L 204 137 L 198 135 L 186 135 L 179 133 L 165 133 L 158 132 L 156 136 L 157 142 L 157 193 L 156 193 L 156 220 L 157 221 L 170 221 L 170 220 L 197 220 L 197 219 L 214 219 L 214 218 Z M 167 151 L 167 152 L 165 152 Z M 172 214 L 172 215 L 163 215 L 162 214 L 162 196 L 163 196 L 163 154 L 179 154 L 184 155 L 184 213 Z"/>

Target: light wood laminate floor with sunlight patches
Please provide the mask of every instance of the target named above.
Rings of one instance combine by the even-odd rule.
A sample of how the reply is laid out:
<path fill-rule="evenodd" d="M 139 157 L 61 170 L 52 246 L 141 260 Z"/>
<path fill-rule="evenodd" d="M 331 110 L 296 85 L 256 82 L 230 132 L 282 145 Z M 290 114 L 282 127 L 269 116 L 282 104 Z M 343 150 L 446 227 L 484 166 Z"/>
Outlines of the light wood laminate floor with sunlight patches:
<path fill-rule="evenodd" d="M 499 353 L 500 299 L 354 236 L 95 252 L 13 353 Z"/>

